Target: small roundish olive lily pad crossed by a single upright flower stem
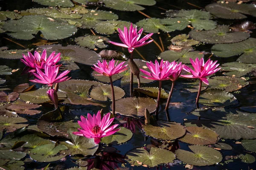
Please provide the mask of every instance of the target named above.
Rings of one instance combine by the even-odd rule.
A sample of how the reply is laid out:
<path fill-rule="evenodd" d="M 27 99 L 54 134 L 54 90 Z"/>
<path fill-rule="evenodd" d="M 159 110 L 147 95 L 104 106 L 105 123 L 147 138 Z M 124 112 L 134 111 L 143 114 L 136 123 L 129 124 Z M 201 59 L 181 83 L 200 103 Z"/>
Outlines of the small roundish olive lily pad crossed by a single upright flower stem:
<path fill-rule="evenodd" d="M 121 99 L 125 96 L 125 92 L 122 88 L 114 86 L 115 100 Z M 112 91 L 111 85 L 97 85 L 92 86 L 89 96 L 95 100 L 107 101 L 108 99 L 112 100 Z"/>

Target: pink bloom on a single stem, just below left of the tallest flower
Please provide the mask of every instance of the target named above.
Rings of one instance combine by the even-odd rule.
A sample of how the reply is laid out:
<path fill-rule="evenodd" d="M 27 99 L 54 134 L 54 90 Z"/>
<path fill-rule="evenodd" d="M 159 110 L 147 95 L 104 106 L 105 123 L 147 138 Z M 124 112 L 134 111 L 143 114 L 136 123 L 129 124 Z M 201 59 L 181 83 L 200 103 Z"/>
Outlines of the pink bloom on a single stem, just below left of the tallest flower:
<path fill-rule="evenodd" d="M 111 77 L 114 74 L 119 74 L 125 70 L 127 70 L 128 68 L 127 65 L 123 66 L 125 62 L 121 62 L 120 64 L 117 64 L 118 62 L 115 63 L 115 60 L 112 59 L 109 64 L 108 62 L 103 59 L 102 62 L 100 62 L 98 60 L 97 65 L 94 65 L 93 70 L 97 71 L 100 74 L 96 74 L 96 76 L 107 76 L 107 77 Z"/>

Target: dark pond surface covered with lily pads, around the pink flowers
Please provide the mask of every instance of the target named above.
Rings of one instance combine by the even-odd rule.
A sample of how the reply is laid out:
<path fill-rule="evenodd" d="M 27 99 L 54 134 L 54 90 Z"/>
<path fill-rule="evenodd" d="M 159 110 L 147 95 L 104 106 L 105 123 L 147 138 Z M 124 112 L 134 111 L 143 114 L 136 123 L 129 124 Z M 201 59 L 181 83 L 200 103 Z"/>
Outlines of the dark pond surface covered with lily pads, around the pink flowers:
<path fill-rule="evenodd" d="M 116 5 L 113 0 L 95 1 L 0 0 L 0 169 L 254 169 L 255 1 L 116 0 Z M 61 5 L 48 7 L 54 3 Z M 73 4 L 72 9 L 64 8 Z M 126 23 L 114 23 L 116 20 Z M 143 27 L 145 34 L 154 32 L 154 42 L 133 52 L 139 68 L 146 68 L 142 60 L 176 60 L 190 65 L 189 57 L 204 57 L 205 62 L 217 60 L 221 70 L 209 78 L 208 87 L 203 85 L 199 109 L 195 104 L 199 81 L 179 78 L 167 113 L 169 121 L 165 105 L 172 82 L 163 81 L 158 125 L 156 121 L 144 125 L 144 110 L 148 108 L 154 115 L 157 99 L 157 89 L 145 87 L 157 88 L 158 81 L 141 78 L 142 89 L 135 90 L 134 99 L 129 100 L 129 71 L 113 76 L 113 85 L 119 87 L 115 88 L 115 123 L 122 129 L 96 145 L 72 132 L 79 127 L 81 115 L 111 111 L 109 79 L 95 76 L 91 66 L 101 59 L 98 54 L 102 50 L 130 56 L 127 48 L 105 41 L 121 42 L 116 28 L 110 25 L 123 28 L 129 22 Z M 175 42 L 173 38 L 180 34 L 189 34 L 189 40 Z M 88 35 L 96 35 L 95 40 L 85 39 Z M 198 41 L 192 44 L 194 51 L 189 50 L 192 39 Z M 170 50 L 168 47 L 175 45 L 172 42 L 177 46 Z M 49 103 L 46 86 L 30 82 L 33 76 L 23 73 L 22 53 L 41 54 L 44 49 L 47 55 L 61 52 L 60 70 L 71 70 L 68 76 L 79 79 L 59 84 L 61 110 L 54 110 Z M 108 84 L 107 90 L 103 83 Z"/>

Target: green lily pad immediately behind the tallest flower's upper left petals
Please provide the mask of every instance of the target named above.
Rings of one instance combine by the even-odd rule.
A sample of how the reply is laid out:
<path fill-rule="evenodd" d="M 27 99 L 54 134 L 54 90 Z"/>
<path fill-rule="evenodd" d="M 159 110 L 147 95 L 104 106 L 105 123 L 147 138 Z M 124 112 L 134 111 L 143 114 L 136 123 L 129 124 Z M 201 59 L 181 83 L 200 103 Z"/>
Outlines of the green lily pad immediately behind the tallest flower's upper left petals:
<path fill-rule="evenodd" d="M 96 24 L 95 31 L 100 34 L 113 34 L 115 31 L 117 31 L 117 28 L 123 29 L 124 26 L 129 28 L 131 26 L 130 22 L 127 21 L 102 21 Z M 135 26 L 133 24 L 133 26 Z"/>

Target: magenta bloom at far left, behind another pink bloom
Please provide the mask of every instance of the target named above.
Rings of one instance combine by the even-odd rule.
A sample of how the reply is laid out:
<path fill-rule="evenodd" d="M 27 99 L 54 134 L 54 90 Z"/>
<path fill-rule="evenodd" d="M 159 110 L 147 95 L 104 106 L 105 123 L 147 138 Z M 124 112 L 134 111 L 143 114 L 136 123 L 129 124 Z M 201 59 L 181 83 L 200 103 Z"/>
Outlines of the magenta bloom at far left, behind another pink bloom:
<path fill-rule="evenodd" d="M 52 54 L 50 54 L 49 57 L 47 58 L 45 49 L 42 52 L 42 55 L 40 55 L 37 51 L 34 52 L 34 55 L 32 55 L 29 51 L 28 51 L 28 56 L 25 56 L 24 54 L 22 55 L 24 59 L 20 59 L 20 60 L 27 67 L 29 67 L 28 68 L 29 72 L 35 72 L 36 71 L 35 68 L 44 69 L 46 64 L 49 66 L 55 65 L 61 59 L 60 57 L 61 53 L 58 53 L 57 55 L 55 55 L 55 51 L 53 51 Z"/>

